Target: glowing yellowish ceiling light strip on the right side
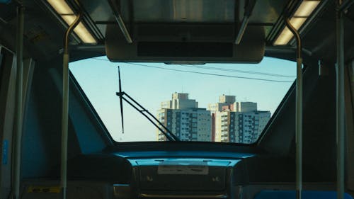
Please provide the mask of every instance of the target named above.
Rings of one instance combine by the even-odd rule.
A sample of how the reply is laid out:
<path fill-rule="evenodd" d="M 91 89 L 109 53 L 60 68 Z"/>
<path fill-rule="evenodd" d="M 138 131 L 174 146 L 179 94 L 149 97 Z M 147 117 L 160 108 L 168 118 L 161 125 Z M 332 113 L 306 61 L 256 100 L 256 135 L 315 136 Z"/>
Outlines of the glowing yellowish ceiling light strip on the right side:
<path fill-rule="evenodd" d="M 319 5 L 319 0 L 304 0 L 295 11 L 294 16 L 290 18 L 290 23 L 296 30 L 299 30 L 304 22 L 309 18 L 311 13 L 316 9 Z M 293 38 L 289 28 L 285 27 L 278 38 L 275 40 L 274 45 L 287 45 L 287 43 Z"/>

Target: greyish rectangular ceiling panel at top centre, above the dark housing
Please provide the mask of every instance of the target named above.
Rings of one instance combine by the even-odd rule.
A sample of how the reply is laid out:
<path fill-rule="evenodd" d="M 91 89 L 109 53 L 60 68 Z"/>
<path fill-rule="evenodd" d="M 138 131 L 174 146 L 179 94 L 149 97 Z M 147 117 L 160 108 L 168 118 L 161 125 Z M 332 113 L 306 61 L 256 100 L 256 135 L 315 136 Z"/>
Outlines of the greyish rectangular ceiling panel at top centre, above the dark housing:
<path fill-rule="evenodd" d="M 134 0 L 135 22 L 234 22 L 234 0 Z"/>

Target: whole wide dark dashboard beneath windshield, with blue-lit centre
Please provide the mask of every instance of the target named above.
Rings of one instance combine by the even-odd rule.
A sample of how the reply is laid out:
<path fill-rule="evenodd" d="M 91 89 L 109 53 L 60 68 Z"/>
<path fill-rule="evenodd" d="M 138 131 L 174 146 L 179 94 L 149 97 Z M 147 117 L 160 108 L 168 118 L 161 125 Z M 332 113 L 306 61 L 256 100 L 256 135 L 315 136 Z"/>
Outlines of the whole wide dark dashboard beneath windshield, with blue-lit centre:
<path fill-rule="evenodd" d="M 318 176 L 316 170 L 304 168 L 311 171 L 308 176 Z M 270 156 L 251 145 L 140 142 L 73 157 L 67 176 L 76 188 L 69 190 L 72 195 L 87 190 L 90 197 L 99 193 L 108 198 L 153 199 L 254 198 L 263 190 L 294 190 L 294 174 L 292 157 Z M 98 182 L 103 184 L 93 186 Z M 331 190 L 333 185 L 318 187 Z"/>

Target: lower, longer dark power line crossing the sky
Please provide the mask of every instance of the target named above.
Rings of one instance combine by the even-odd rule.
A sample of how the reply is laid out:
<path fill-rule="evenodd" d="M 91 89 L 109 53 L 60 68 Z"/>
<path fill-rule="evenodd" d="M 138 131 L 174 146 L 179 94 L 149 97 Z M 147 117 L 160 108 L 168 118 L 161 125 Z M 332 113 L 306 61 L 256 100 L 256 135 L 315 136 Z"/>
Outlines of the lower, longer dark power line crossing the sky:
<path fill-rule="evenodd" d="M 91 58 L 91 59 L 98 59 L 98 60 L 103 60 L 103 61 L 108 61 L 107 59 L 100 59 L 100 58 Z M 210 76 L 224 76 L 224 77 L 230 77 L 230 78 L 237 78 L 237 79 L 251 79 L 251 80 L 259 80 L 259 81 L 271 81 L 271 82 L 280 82 L 280 83 L 292 83 L 292 81 L 281 81 L 281 80 L 274 80 L 274 79 L 262 79 L 262 78 L 253 78 L 253 77 L 246 77 L 246 76 L 232 76 L 232 75 L 226 75 L 226 74 L 212 74 L 212 73 L 206 73 L 206 72 L 192 72 L 192 71 L 186 71 L 186 70 L 181 70 L 181 69 L 168 69 L 164 67 L 156 67 L 156 66 L 149 66 L 146 64 L 136 64 L 136 63 L 131 63 L 131 62 L 124 62 L 125 64 L 132 64 L 136 66 L 141 66 L 141 67 L 149 67 L 149 68 L 155 68 L 155 69 L 164 69 L 164 70 L 170 70 L 170 71 L 176 71 L 176 72 L 187 72 L 187 73 L 193 73 L 193 74 L 205 74 L 205 75 L 210 75 Z"/>

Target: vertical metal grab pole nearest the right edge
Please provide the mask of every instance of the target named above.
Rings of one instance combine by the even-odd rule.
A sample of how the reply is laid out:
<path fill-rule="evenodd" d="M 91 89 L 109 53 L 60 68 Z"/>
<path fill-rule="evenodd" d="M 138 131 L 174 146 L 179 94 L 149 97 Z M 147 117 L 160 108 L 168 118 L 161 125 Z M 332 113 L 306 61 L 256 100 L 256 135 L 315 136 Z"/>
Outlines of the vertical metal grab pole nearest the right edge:
<path fill-rule="evenodd" d="M 344 107 L 344 21 L 343 13 L 339 10 L 342 0 L 337 1 L 336 40 L 336 134 L 337 134 L 337 198 L 344 198 L 344 138 L 345 138 L 345 107 Z"/>

